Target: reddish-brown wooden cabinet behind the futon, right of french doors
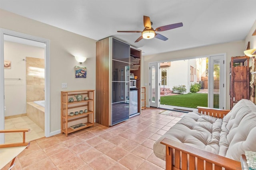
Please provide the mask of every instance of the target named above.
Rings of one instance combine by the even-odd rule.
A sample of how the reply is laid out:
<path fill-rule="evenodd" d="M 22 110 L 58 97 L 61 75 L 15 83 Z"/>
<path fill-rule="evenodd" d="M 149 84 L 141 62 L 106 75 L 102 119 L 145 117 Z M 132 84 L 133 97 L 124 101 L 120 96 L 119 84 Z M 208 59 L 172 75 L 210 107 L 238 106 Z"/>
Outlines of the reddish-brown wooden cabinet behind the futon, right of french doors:
<path fill-rule="evenodd" d="M 230 109 L 242 99 L 250 99 L 249 57 L 231 57 Z"/>

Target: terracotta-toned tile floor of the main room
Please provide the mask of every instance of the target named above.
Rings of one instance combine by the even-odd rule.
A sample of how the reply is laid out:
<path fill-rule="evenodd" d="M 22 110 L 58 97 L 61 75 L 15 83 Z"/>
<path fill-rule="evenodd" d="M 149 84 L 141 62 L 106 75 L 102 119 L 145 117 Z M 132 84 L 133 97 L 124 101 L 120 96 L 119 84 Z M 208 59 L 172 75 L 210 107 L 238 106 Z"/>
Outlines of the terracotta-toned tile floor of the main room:
<path fill-rule="evenodd" d="M 58 134 L 32 141 L 16 158 L 13 170 L 162 170 L 165 161 L 153 152 L 154 142 L 181 118 L 146 108 L 112 127 L 95 123 L 66 137 Z M 7 169 L 7 166 L 4 168 Z"/>

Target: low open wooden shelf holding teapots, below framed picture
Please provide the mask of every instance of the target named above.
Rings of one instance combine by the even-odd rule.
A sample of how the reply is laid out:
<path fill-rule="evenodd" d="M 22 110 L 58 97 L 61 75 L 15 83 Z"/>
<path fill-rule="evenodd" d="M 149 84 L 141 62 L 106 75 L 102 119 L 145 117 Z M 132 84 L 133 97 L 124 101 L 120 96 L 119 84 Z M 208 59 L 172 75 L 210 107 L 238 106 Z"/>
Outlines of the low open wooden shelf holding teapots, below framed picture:
<path fill-rule="evenodd" d="M 94 126 L 94 91 L 95 90 L 72 90 L 61 92 L 61 133 L 68 133 Z M 78 102 L 74 96 L 81 94 L 82 101 Z M 89 100 L 84 100 L 88 96 Z M 69 98 L 74 102 L 68 102 Z M 87 112 L 79 113 L 87 109 Z M 70 116 L 70 112 L 78 111 L 78 115 Z M 83 123 L 85 126 L 72 129 L 71 126 Z"/>

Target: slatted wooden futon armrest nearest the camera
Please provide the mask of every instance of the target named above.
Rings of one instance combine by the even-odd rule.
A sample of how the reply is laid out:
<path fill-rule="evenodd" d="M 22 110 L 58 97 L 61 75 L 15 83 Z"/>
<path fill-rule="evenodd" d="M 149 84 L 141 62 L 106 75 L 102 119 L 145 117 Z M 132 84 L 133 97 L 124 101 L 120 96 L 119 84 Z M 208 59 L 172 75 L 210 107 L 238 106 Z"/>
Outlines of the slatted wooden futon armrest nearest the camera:
<path fill-rule="evenodd" d="M 195 167 L 198 170 L 241 170 L 241 163 L 236 160 L 168 138 L 164 138 L 161 143 L 166 145 L 166 170 L 192 170 Z"/>

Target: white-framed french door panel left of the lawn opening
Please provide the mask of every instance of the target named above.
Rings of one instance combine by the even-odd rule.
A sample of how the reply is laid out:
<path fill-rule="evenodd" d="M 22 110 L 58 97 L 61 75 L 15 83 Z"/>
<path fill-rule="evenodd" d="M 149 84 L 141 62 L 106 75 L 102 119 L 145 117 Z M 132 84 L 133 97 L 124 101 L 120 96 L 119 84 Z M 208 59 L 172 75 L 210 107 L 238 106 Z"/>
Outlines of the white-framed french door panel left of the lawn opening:
<path fill-rule="evenodd" d="M 159 107 L 160 105 L 160 92 L 158 92 L 160 83 L 159 83 L 159 64 L 158 63 L 150 63 L 149 72 L 150 72 L 150 106 Z"/>

